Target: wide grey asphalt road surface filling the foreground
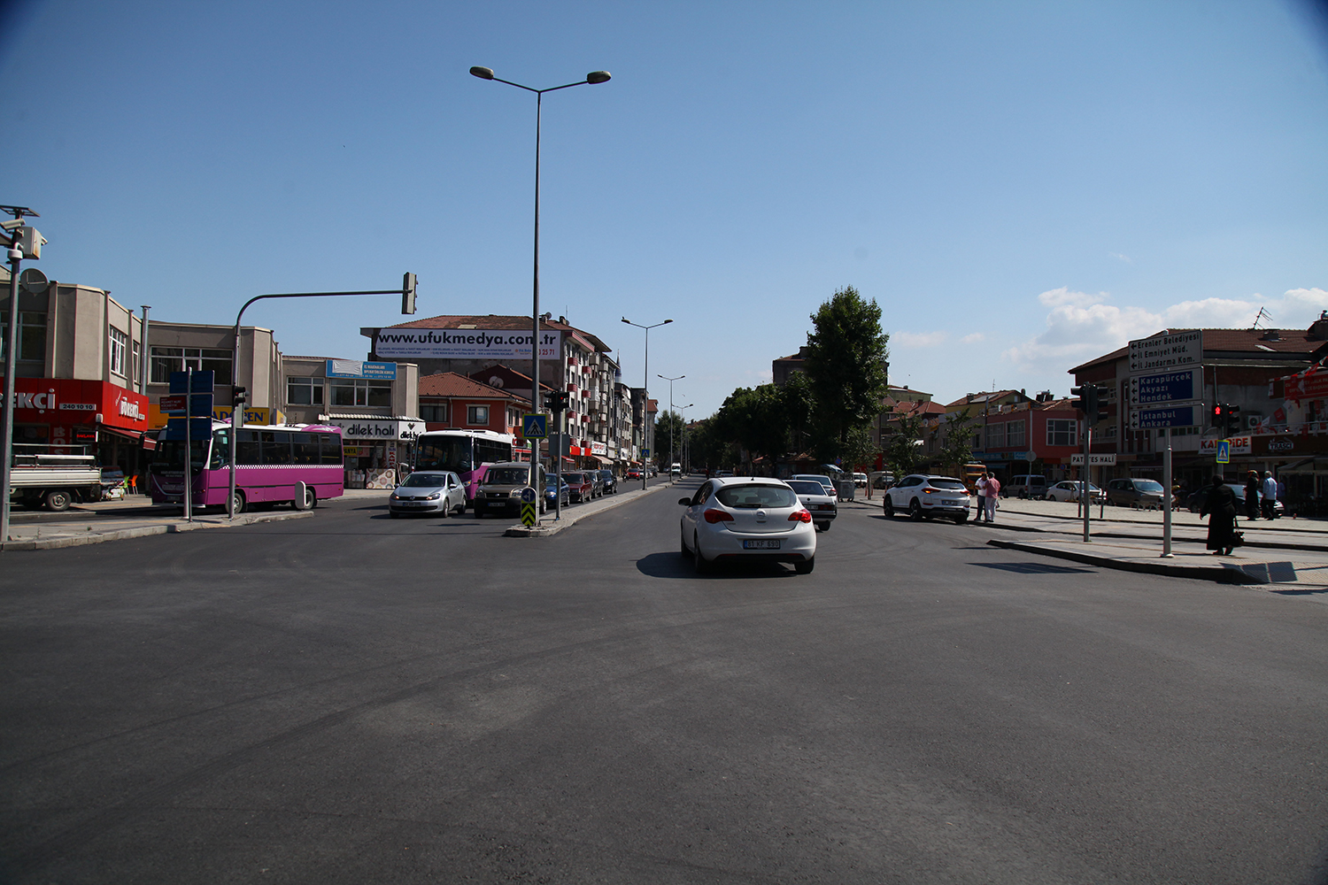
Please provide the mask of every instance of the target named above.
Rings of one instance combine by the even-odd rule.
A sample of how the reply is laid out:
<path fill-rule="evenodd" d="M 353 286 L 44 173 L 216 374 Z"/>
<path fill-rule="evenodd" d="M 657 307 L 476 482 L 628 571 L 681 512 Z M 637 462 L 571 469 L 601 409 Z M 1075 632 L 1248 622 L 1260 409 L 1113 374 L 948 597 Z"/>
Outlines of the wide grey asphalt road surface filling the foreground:
<path fill-rule="evenodd" d="M 0 555 L 0 881 L 1328 882 L 1321 598 L 695 486 Z"/>

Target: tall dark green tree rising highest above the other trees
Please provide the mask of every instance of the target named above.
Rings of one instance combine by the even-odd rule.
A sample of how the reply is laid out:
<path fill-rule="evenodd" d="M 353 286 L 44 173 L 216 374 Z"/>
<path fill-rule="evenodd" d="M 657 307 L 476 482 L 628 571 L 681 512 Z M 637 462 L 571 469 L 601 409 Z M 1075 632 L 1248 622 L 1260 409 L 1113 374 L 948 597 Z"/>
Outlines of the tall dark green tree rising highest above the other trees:
<path fill-rule="evenodd" d="M 846 455 L 854 429 L 880 411 L 890 336 L 880 330 L 880 306 L 851 285 L 822 304 L 811 322 L 803 366 L 822 431 L 814 444 L 829 462 Z"/>

